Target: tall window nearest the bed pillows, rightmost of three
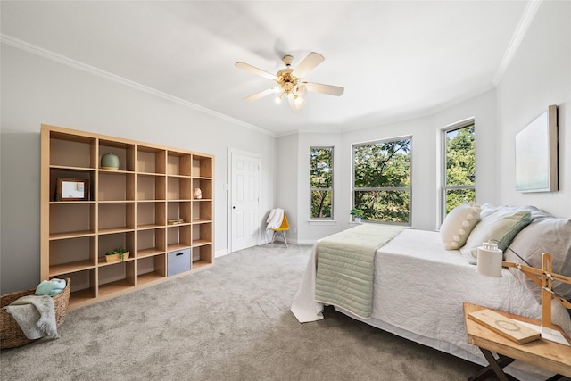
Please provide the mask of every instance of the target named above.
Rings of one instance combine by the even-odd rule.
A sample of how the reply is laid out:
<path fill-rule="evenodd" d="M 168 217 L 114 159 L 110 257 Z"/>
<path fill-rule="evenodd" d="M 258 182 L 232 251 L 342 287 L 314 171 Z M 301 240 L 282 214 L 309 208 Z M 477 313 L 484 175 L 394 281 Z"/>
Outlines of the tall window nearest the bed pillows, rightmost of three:
<path fill-rule="evenodd" d="M 443 130 L 443 219 L 460 203 L 476 201 L 474 120 Z"/>

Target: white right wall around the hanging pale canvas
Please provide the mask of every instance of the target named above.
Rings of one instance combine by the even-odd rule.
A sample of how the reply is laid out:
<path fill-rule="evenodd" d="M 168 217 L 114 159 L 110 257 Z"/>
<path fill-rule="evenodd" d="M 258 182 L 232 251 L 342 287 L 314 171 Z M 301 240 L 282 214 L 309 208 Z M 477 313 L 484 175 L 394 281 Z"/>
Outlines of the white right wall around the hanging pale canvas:
<path fill-rule="evenodd" d="M 559 106 L 559 192 L 516 192 L 515 136 L 550 104 Z M 498 128 L 501 203 L 571 217 L 571 2 L 542 2 L 498 86 Z"/>

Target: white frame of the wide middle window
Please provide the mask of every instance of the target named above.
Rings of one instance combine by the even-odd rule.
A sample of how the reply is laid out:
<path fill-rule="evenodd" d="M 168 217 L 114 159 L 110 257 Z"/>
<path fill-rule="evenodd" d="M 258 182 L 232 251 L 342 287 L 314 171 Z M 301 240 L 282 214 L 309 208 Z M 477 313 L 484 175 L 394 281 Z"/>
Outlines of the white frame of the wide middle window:
<path fill-rule="evenodd" d="M 408 139 L 410 141 L 410 186 L 380 186 L 380 187 L 355 187 L 355 149 L 362 145 L 382 145 L 385 143 L 391 143 L 399 140 Z M 408 222 L 392 222 L 392 221 L 381 221 L 381 220 L 371 220 L 363 219 L 363 222 L 375 223 L 375 224 L 390 224 L 390 225 L 401 225 L 406 227 L 412 226 L 412 162 L 413 162 L 413 150 L 412 150 L 412 135 L 405 135 L 401 137 L 387 137 L 384 139 L 371 140 L 368 142 L 355 143 L 352 145 L 352 162 L 351 162 L 351 208 L 355 208 L 355 192 L 361 191 L 377 191 L 377 192 L 408 192 L 409 193 L 409 221 Z"/>

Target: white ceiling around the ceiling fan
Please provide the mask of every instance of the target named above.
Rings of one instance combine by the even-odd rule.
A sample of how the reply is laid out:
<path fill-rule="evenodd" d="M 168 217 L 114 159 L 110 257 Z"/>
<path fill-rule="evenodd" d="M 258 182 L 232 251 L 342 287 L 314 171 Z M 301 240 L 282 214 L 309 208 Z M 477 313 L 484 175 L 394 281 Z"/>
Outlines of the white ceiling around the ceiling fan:
<path fill-rule="evenodd" d="M 367 128 L 430 114 L 494 86 L 525 33 L 527 1 L 2 1 L 5 43 L 127 79 L 254 128 Z M 345 88 L 309 93 L 299 113 L 262 70 L 326 58 L 304 80 Z"/>

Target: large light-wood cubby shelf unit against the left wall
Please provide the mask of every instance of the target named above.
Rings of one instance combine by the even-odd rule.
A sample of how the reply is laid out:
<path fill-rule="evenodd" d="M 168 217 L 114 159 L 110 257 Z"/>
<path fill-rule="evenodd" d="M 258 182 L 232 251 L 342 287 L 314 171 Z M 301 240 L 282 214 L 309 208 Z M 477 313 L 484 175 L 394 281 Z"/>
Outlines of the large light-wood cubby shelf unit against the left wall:
<path fill-rule="evenodd" d="M 119 170 L 100 167 L 109 152 Z M 73 309 L 165 280 L 172 251 L 191 249 L 177 276 L 210 267 L 213 173 L 211 154 L 42 125 L 41 279 L 70 277 Z M 56 201 L 58 178 L 88 180 L 87 200 Z M 107 263 L 104 253 L 118 246 L 128 260 Z"/>

